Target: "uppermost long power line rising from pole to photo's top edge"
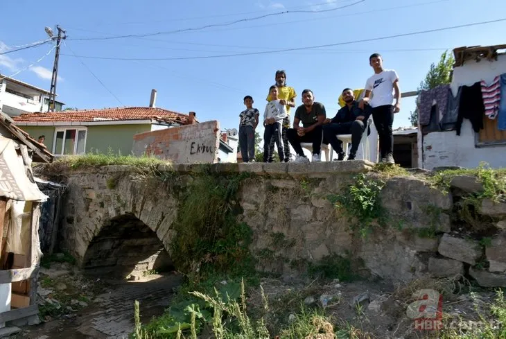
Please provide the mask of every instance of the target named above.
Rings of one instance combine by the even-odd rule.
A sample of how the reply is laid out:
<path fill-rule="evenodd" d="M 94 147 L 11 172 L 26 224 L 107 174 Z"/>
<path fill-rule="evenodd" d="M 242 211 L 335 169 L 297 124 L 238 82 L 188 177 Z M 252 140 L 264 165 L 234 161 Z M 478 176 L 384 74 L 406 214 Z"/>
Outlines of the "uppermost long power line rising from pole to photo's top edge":
<path fill-rule="evenodd" d="M 112 39 L 123 39 L 125 37 L 152 37 L 154 35 L 183 33 L 183 32 L 189 32 L 189 31 L 201 31 L 201 30 L 203 30 L 205 28 L 232 26 L 232 25 L 238 24 L 240 22 L 254 21 L 254 20 L 263 19 L 265 17 L 273 17 L 273 16 L 285 15 L 285 14 L 289 14 L 289 13 L 291 14 L 291 13 L 321 13 L 321 12 L 331 12 L 333 10 L 340 10 L 342 8 L 351 7 L 351 6 L 354 6 L 354 5 L 356 5 L 358 3 L 361 3 L 361 2 L 364 2 L 364 1 L 365 0 L 358 0 L 358 1 L 355 1 L 354 3 L 349 4 L 349 5 L 341 6 L 341 7 L 336 7 L 336 8 L 331 8 L 331 9 L 328 9 L 328 10 L 285 10 L 283 12 L 269 13 L 269 14 L 261 15 L 259 17 L 239 19 L 239 20 L 236 20 L 236 21 L 231 21 L 231 22 L 227 22 L 227 23 L 223 23 L 223 24 L 209 24 L 209 25 L 206 25 L 206 26 L 193 27 L 193 28 L 183 28 L 183 29 L 178 29 L 178 30 L 175 30 L 175 31 L 164 31 L 164 32 L 157 32 L 157 33 L 146 33 L 146 34 L 116 35 L 116 36 L 112 36 L 112 37 L 80 37 L 80 38 L 69 39 L 69 40 L 112 40 Z"/>

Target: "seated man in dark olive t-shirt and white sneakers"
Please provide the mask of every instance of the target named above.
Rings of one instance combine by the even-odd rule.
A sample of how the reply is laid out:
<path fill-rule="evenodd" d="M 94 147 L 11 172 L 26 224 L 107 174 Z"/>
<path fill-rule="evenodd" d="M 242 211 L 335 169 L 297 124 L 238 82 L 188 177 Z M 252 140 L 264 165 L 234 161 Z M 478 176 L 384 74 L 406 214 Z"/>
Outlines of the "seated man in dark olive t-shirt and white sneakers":
<path fill-rule="evenodd" d="M 293 128 L 286 131 L 286 135 L 293 149 L 297 153 L 295 162 L 308 163 L 309 159 L 304 155 L 301 142 L 313 143 L 313 162 L 320 161 L 320 150 L 322 148 L 322 123 L 326 118 L 325 107 L 315 102 L 313 91 L 304 89 L 302 91 L 302 103 L 295 111 Z M 302 121 L 302 126 L 299 123 Z"/>

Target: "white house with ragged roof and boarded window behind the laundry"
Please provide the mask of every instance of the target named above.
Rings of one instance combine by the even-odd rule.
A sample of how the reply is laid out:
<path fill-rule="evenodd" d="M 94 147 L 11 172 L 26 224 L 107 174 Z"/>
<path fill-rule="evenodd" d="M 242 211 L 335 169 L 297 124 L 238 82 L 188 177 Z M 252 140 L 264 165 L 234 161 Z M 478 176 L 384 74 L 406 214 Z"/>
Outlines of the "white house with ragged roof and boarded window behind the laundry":
<path fill-rule="evenodd" d="M 453 94 L 462 85 L 470 86 L 480 80 L 490 83 L 506 73 L 505 49 L 506 45 L 454 49 Z M 480 162 L 487 162 L 493 168 L 506 167 L 506 131 L 498 130 L 497 119 L 491 120 L 485 115 L 483 119 L 484 128 L 478 133 L 464 119 L 460 136 L 455 130 L 424 135 L 419 127 L 418 164 L 429 170 L 436 166 L 476 168 Z"/>

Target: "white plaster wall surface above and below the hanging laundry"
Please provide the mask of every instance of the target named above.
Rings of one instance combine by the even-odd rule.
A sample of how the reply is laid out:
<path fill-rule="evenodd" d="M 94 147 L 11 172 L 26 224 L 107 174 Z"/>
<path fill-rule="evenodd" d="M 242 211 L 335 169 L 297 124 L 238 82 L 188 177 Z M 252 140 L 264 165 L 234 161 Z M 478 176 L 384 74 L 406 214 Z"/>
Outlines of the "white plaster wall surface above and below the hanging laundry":
<path fill-rule="evenodd" d="M 498 60 L 492 62 L 488 60 L 467 61 L 463 66 L 453 69 L 452 92 L 455 95 L 458 87 L 473 85 L 482 79 L 491 82 L 495 76 L 502 73 L 506 73 L 506 55 L 498 55 Z M 423 139 L 423 143 L 419 142 L 419 157 L 423 158 L 422 168 L 429 170 L 435 166 L 474 168 L 480 162 L 487 162 L 494 168 L 506 167 L 506 146 L 476 148 L 475 132 L 471 122 L 467 119 L 464 119 L 462 123 L 460 136 L 457 136 L 453 130 L 431 132 L 426 134 Z"/>

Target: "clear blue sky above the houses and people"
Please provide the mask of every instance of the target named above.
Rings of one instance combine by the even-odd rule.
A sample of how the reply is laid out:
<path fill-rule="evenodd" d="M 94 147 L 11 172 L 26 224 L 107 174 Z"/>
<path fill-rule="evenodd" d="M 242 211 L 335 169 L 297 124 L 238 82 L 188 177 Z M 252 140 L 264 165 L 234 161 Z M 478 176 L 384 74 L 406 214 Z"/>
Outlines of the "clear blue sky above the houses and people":
<path fill-rule="evenodd" d="M 91 109 L 147 106 L 157 89 L 157 106 L 177 112 L 197 112 L 199 121 L 216 119 L 222 128 L 237 128 L 243 96 L 265 107 L 274 72 L 285 69 L 295 87 L 297 105 L 304 88 L 313 89 L 327 115 L 334 116 L 344 87 L 363 88 L 372 74 L 368 57 L 378 52 L 384 66 L 399 73 L 403 92 L 417 89 L 430 63 L 444 49 L 506 43 L 506 21 L 436 33 L 359 42 L 324 49 L 246 55 L 201 60 L 123 61 L 81 59 L 119 98 L 114 98 L 80 63 L 70 56 L 113 58 L 177 58 L 272 51 L 351 42 L 399 33 L 425 31 L 506 17 L 505 0 L 365 0 L 330 12 L 288 13 L 221 28 L 157 35 L 148 39 L 73 41 L 78 37 L 107 37 L 175 31 L 220 24 L 284 10 L 330 10 L 358 0 L 220 0 L 220 1 L 51 1 L 2 3 L 2 46 L 27 44 L 46 38 L 44 26 L 60 24 L 69 40 L 62 46 L 58 98 L 67 107 Z M 5 48 L 5 47 L 4 47 Z M 10 75 L 42 57 L 51 46 L 0 55 L 0 73 Z M 53 54 L 15 78 L 49 90 Z M 410 125 L 413 98 L 402 102 L 394 127 Z"/>

